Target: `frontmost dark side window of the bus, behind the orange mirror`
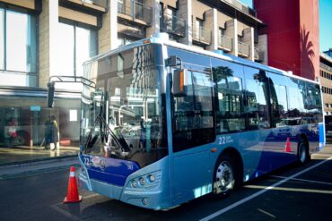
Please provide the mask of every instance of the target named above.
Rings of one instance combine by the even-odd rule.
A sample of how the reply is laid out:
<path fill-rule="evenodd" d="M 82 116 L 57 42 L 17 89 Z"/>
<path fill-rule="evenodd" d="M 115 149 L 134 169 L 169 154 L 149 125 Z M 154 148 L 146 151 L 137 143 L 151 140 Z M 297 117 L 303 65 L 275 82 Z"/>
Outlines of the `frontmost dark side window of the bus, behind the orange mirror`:
<path fill-rule="evenodd" d="M 188 70 L 187 93 L 174 98 L 173 149 L 180 151 L 214 141 L 211 74 Z"/>

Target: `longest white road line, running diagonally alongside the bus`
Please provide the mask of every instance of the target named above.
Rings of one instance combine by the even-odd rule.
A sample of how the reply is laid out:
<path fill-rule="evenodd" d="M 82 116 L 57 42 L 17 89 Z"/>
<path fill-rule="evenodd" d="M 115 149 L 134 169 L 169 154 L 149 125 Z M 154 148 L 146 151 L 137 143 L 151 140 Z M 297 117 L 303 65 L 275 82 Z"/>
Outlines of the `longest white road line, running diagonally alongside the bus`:
<path fill-rule="evenodd" d="M 242 199 L 240 201 L 237 201 L 237 202 L 233 203 L 232 205 L 228 206 L 227 208 L 223 208 L 223 209 L 221 209 L 219 211 L 216 211 L 215 213 L 213 213 L 213 214 L 211 214 L 211 215 L 209 215 L 207 217 L 204 217 L 204 218 L 200 219 L 200 221 L 207 221 L 207 220 L 213 219 L 214 217 L 218 217 L 218 216 L 222 215 L 223 213 L 231 210 L 232 208 L 236 208 L 236 207 L 240 206 L 241 204 L 243 204 L 243 203 L 245 203 L 245 202 L 247 202 L 249 200 L 252 200 L 252 199 L 254 199 L 256 197 L 258 197 L 259 195 L 265 193 L 266 191 L 272 190 L 276 186 L 280 186 L 281 184 L 286 183 L 287 181 L 295 178 L 296 176 L 304 174 L 304 173 L 306 173 L 306 172 L 308 172 L 308 171 L 316 168 L 317 166 L 320 166 L 320 165 L 328 162 L 328 160 L 330 160 L 330 159 L 332 159 L 332 157 L 328 157 L 328 159 L 325 159 L 324 161 L 319 162 L 317 165 L 310 166 L 310 167 L 306 168 L 305 170 L 302 170 L 301 172 L 299 172 L 297 174 L 293 174 L 293 175 L 291 175 L 289 177 L 286 177 L 284 180 L 279 181 L 278 183 L 275 183 L 275 184 L 273 184 L 271 186 L 268 186 L 264 190 L 258 191 L 256 193 L 250 195 L 249 197 L 246 197 L 246 198 L 244 198 L 244 199 Z"/>

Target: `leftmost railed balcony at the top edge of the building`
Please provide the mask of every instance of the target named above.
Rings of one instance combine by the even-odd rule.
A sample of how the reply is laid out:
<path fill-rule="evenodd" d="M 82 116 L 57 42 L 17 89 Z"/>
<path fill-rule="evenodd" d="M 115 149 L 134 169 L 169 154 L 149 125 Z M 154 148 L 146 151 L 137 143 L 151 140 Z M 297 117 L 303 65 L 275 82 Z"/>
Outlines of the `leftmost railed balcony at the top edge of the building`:
<path fill-rule="evenodd" d="M 118 16 L 128 21 L 135 21 L 150 26 L 152 23 L 153 9 L 134 0 L 123 0 L 118 1 Z"/>

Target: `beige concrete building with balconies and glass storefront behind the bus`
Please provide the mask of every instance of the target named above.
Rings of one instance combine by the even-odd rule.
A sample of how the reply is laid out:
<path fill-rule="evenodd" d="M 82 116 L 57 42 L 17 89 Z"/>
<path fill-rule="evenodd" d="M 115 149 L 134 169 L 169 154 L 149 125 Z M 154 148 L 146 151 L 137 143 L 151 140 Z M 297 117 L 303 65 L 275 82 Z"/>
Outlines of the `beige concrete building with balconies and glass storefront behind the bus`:
<path fill-rule="evenodd" d="M 94 55 L 167 32 L 171 40 L 192 47 L 267 64 L 264 27 L 238 0 L 0 0 L 0 147 L 29 147 L 39 150 L 39 157 L 73 154 L 81 85 L 57 83 L 50 109 L 47 83 L 59 75 L 82 76 L 83 62 Z M 60 132 L 56 155 L 40 152 L 51 115 Z M 20 139 L 12 145 L 13 119 Z"/>

